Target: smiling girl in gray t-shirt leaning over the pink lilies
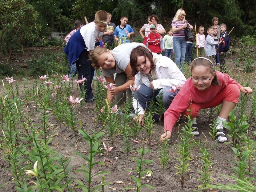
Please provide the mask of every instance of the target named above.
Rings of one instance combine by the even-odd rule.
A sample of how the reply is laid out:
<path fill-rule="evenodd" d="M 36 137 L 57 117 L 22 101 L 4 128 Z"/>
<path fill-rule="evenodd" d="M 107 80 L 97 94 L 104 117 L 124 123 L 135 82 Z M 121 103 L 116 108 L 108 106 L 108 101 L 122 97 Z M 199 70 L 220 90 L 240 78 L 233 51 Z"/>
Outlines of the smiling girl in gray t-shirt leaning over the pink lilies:
<path fill-rule="evenodd" d="M 92 66 L 96 69 L 102 67 L 102 74 L 107 83 L 114 83 L 115 86 L 108 91 L 109 102 L 115 98 L 115 103 L 122 103 L 126 97 L 131 99 L 130 85 L 134 85 L 134 76 L 131 74 L 130 53 L 137 46 L 144 46 L 142 43 L 127 43 L 115 47 L 113 50 L 97 48 L 91 54 Z M 113 74 L 117 73 L 114 79 Z M 127 95 L 126 95 L 127 94 Z"/>

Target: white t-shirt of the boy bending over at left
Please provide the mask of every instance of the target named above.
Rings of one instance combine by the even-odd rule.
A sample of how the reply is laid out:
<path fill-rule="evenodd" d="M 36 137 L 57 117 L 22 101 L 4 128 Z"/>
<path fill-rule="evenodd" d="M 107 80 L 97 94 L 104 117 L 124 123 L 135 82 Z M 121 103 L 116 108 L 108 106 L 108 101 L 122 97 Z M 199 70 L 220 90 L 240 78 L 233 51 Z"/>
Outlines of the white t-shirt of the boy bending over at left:
<path fill-rule="evenodd" d="M 87 47 L 88 51 L 94 50 L 95 42 L 100 41 L 103 35 L 103 32 L 98 31 L 96 28 L 94 21 L 82 26 L 80 33 L 84 39 L 85 46 Z"/>

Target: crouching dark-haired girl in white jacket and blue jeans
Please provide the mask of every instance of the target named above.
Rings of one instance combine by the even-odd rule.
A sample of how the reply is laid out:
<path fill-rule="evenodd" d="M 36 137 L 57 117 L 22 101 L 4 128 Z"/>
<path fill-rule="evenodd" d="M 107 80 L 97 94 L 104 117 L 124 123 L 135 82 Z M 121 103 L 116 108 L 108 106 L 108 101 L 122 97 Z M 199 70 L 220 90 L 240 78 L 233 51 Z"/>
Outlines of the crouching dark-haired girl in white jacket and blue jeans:
<path fill-rule="evenodd" d="M 158 94 L 162 92 L 162 101 L 167 109 L 186 82 L 186 78 L 170 58 L 158 54 L 152 55 L 143 46 L 131 51 L 130 66 L 131 76 L 135 75 L 134 85 L 138 86 L 133 94 L 133 107 L 138 123 L 143 126 L 144 109 L 149 109 L 152 97 L 155 102 Z M 157 119 L 159 116 L 154 114 L 153 117 Z"/>

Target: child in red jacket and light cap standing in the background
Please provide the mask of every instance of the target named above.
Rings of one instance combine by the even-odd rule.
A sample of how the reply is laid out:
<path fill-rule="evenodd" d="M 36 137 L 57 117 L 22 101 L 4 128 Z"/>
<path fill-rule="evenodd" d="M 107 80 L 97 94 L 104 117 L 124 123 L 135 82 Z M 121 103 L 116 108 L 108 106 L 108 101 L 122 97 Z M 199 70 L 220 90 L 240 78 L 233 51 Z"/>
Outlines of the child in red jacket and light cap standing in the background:
<path fill-rule="evenodd" d="M 160 34 L 156 32 L 156 26 L 154 24 L 150 25 L 150 34 L 148 35 L 148 48 L 152 53 L 161 54 L 160 47 Z"/>

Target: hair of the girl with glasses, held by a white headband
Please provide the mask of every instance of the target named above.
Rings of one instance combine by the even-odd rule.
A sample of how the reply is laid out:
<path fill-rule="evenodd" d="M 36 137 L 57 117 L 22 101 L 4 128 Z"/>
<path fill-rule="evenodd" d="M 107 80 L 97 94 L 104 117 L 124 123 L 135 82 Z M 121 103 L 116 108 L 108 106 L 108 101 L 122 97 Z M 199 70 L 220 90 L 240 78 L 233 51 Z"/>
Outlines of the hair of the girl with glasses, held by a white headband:
<path fill-rule="evenodd" d="M 192 74 L 192 70 L 194 69 L 195 66 L 205 66 L 205 67 L 208 67 L 211 74 L 213 74 L 213 72 L 215 71 L 213 63 L 209 59 L 207 59 L 207 58 L 196 58 L 196 59 L 194 59 L 191 62 L 191 74 Z M 220 82 L 218 80 L 218 77 L 217 77 L 216 73 L 214 75 L 212 83 L 214 85 L 220 86 Z"/>

